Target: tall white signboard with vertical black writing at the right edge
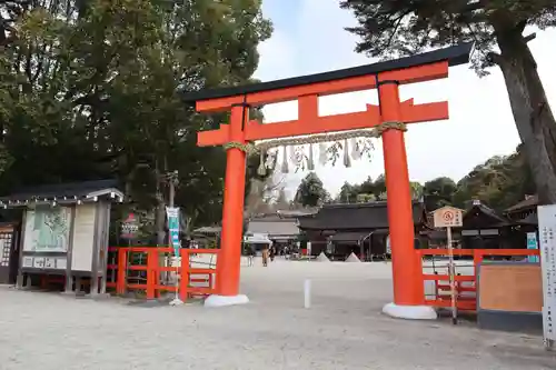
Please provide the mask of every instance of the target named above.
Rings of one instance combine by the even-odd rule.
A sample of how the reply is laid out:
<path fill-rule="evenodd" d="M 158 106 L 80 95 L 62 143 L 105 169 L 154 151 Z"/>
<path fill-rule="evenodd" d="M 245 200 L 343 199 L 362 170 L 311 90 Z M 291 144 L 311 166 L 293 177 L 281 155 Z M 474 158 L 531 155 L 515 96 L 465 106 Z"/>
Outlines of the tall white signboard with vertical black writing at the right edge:
<path fill-rule="evenodd" d="M 538 207 L 538 236 L 543 271 L 544 337 L 556 340 L 556 204 Z"/>

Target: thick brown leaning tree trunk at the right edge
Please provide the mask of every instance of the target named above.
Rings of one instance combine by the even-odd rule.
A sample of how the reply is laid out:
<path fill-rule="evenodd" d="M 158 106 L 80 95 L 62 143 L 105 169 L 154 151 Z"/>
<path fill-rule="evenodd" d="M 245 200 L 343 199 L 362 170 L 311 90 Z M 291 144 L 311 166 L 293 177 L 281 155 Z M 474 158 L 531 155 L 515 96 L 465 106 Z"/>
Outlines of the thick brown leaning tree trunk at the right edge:
<path fill-rule="evenodd" d="M 497 32 L 500 67 L 539 204 L 556 203 L 556 121 L 522 30 Z M 488 124 L 488 122 L 485 122 Z"/>

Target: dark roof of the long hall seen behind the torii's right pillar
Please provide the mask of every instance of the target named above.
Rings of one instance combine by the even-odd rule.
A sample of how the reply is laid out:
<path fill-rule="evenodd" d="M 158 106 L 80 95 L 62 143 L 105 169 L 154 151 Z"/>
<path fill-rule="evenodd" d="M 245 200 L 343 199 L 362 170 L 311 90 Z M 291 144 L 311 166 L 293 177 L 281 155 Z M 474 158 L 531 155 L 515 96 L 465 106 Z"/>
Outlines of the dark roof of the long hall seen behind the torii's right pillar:
<path fill-rule="evenodd" d="M 421 202 L 414 202 L 413 211 L 416 224 L 426 221 L 425 208 Z M 387 229 L 386 201 L 325 204 L 317 214 L 299 218 L 299 228 L 312 230 Z"/>

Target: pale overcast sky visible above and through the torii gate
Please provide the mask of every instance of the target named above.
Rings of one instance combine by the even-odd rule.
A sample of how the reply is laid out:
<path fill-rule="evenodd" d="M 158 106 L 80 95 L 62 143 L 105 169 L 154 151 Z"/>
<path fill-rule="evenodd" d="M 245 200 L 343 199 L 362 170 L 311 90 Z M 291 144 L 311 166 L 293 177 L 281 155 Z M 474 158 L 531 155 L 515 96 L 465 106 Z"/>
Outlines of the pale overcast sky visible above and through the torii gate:
<path fill-rule="evenodd" d="M 256 77 L 270 81 L 374 62 L 354 51 L 357 38 L 344 30 L 355 19 L 339 9 L 339 0 L 264 0 L 264 13 L 274 23 L 272 37 L 259 47 Z M 553 109 L 556 109 L 556 31 L 539 31 L 529 44 Z M 425 182 L 439 176 L 456 181 L 476 164 L 497 154 L 509 154 L 519 142 L 502 73 L 479 79 L 467 66 L 450 69 L 449 79 L 400 88 L 401 99 L 416 103 L 449 101 L 450 119 L 411 124 L 406 133 L 409 177 Z M 377 103 L 376 92 L 364 91 L 320 99 L 320 114 L 365 110 Z M 265 107 L 267 122 L 297 118 L 297 107 L 285 102 Z M 375 144 L 373 160 L 341 163 L 331 168 L 316 164 L 316 171 L 332 194 L 344 181 L 361 182 L 384 172 L 383 148 Z M 290 196 L 306 173 L 286 177 Z"/>

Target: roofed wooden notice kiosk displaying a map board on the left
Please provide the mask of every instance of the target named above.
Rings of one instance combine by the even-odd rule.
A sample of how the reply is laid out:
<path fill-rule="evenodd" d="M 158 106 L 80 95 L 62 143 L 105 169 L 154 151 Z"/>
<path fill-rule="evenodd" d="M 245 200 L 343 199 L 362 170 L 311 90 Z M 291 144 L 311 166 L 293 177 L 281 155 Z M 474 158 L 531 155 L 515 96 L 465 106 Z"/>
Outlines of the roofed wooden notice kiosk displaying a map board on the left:
<path fill-rule="evenodd" d="M 23 209 L 17 259 L 18 288 L 38 281 L 64 283 L 66 292 L 106 292 L 110 208 L 123 193 L 115 180 L 23 189 L 0 198 L 4 209 Z"/>

